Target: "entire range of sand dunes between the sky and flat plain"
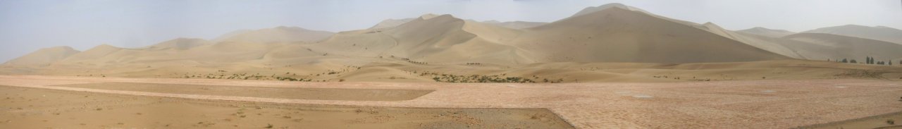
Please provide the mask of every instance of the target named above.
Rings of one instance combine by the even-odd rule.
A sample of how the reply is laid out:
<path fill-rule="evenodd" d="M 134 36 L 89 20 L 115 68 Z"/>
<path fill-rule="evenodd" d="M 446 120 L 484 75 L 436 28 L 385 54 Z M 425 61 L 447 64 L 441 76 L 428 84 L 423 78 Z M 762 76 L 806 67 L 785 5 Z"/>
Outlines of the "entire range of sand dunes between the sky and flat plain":
<path fill-rule="evenodd" d="M 22 59 L 51 55 L 51 60 L 37 61 L 50 65 L 5 65 L 0 73 L 136 78 L 253 74 L 263 80 L 435 82 L 436 76 L 421 75 L 429 71 L 569 83 L 902 76 L 893 67 L 804 61 L 865 56 L 902 60 L 902 53 L 895 51 L 902 45 L 833 34 L 776 38 L 750 32 L 780 32 L 763 28 L 733 32 L 714 23 L 691 23 L 619 4 L 589 7 L 525 29 L 499 23 L 424 14 L 334 34 L 276 27 L 226 33 L 212 41 L 179 38 L 143 48 L 100 45 L 77 53 L 36 51 L 42 54 Z M 9 64 L 15 62 L 25 61 Z M 822 68 L 794 68 L 802 64 Z M 794 73 L 774 74 L 776 70 Z M 871 70 L 886 73 L 847 75 Z"/>

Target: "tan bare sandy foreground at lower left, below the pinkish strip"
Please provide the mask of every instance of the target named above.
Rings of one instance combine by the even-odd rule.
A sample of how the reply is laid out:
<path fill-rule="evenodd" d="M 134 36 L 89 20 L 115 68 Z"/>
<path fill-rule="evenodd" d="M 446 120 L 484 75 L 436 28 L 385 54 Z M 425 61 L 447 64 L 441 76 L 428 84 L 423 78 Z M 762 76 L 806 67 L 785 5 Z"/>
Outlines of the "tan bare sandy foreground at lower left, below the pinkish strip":
<path fill-rule="evenodd" d="M 0 128 L 573 128 L 544 108 L 412 108 L 0 86 Z"/>

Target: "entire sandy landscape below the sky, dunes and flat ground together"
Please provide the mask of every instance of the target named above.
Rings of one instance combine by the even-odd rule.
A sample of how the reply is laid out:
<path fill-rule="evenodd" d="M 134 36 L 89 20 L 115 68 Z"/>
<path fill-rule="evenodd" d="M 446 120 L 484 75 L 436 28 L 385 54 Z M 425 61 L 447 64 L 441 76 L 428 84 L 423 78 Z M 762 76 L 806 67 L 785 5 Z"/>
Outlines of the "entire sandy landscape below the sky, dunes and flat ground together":
<path fill-rule="evenodd" d="M 61 46 L 0 65 L 0 128 L 875 128 L 902 111 L 893 32 L 731 31 L 611 4 Z"/>

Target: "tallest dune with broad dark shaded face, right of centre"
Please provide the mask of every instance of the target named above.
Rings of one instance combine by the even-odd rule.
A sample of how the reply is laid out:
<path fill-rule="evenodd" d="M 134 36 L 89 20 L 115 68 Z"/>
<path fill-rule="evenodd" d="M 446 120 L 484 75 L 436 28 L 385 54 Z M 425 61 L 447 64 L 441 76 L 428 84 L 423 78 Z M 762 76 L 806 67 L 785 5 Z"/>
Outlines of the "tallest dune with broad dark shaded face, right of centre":
<path fill-rule="evenodd" d="M 604 6 L 604 5 L 603 5 Z M 724 62 L 789 59 L 698 26 L 618 5 L 530 28 L 513 41 L 539 61 Z M 586 11 L 584 11 L 586 12 Z"/>

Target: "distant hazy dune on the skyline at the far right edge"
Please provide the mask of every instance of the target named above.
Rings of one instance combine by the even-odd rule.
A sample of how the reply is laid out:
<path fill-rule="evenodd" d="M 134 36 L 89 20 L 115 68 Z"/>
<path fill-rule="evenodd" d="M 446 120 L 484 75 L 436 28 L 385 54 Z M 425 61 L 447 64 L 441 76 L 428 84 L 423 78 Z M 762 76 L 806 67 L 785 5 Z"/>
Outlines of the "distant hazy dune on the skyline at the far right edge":
<path fill-rule="evenodd" d="M 805 31 L 805 33 L 831 33 L 902 44 L 902 30 L 889 28 L 886 26 L 870 27 L 848 24 L 842 26 L 818 28 L 811 31 Z"/>

